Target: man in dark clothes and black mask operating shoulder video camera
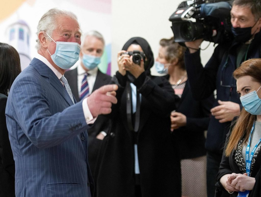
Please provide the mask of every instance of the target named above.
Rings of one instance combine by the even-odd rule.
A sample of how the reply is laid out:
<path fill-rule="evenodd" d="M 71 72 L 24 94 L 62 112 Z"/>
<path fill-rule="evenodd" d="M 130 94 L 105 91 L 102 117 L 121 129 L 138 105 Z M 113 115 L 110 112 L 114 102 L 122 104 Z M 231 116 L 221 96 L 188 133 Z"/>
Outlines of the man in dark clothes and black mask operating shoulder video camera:
<path fill-rule="evenodd" d="M 234 40 L 218 45 L 205 67 L 200 62 L 203 39 L 185 42 L 188 48 L 185 64 L 194 98 L 204 99 L 215 89 L 217 91 L 206 139 L 208 197 L 215 195 L 216 175 L 226 134 L 232 119 L 239 116 L 242 108 L 232 73 L 241 62 L 260 58 L 260 0 L 234 0 L 230 14 Z"/>

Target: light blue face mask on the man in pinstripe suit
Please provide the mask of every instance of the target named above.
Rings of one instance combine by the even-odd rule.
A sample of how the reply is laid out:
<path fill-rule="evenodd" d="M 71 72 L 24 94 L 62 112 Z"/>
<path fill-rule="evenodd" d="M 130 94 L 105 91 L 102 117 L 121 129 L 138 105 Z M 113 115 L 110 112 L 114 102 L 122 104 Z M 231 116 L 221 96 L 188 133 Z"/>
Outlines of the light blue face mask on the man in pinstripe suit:
<path fill-rule="evenodd" d="M 80 45 L 76 42 L 55 42 L 55 43 L 56 43 L 56 50 L 54 54 L 51 55 L 49 50 L 47 49 L 48 53 L 51 55 L 52 61 L 54 61 L 54 63 L 62 69 L 67 70 L 71 68 L 79 60 Z"/>

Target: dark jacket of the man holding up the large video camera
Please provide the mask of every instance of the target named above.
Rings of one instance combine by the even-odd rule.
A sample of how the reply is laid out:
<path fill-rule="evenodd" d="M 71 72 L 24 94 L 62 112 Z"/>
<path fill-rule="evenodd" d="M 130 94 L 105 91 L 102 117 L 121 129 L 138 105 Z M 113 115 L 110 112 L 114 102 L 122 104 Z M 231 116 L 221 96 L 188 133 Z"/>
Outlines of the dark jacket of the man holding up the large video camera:
<path fill-rule="evenodd" d="M 255 35 L 246 59 L 260 58 L 260 46 L 261 31 Z M 200 51 L 192 54 L 188 51 L 185 52 L 188 79 L 195 99 L 207 98 L 216 89 L 217 99 L 213 107 L 219 105 L 217 100 L 240 104 L 238 93 L 236 93 L 236 81 L 232 76 L 236 69 L 236 47 L 238 47 L 237 43 L 219 44 L 205 67 L 201 64 Z M 233 87 L 221 86 L 221 77 L 223 85 L 232 85 Z M 231 122 L 219 123 L 214 116 L 211 116 L 206 139 L 207 150 L 222 154 L 230 124 Z"/>

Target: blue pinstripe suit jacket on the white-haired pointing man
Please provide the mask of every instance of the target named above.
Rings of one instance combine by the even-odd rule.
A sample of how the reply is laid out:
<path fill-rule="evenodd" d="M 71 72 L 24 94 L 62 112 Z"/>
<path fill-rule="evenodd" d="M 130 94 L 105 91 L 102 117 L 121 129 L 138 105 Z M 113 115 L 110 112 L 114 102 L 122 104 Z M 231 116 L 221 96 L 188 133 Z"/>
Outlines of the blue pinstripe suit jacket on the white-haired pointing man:
<path fill-rule="evenodd" d="M 90 196 L 82 102 L 73 104 L 57 76 L 34 58 L 8 96 L 7 128 L 16 196 Z"/>

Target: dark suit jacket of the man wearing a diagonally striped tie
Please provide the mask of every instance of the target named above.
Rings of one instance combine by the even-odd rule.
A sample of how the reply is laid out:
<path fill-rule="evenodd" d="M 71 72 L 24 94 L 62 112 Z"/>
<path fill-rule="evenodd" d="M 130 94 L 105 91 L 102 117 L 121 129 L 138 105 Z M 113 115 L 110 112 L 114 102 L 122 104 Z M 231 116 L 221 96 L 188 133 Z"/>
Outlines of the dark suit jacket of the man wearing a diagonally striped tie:
<path fill-rule="evenodd" d="M 72 90 L 72 93 L 77 101 L 79 101 L 79 94 L 78 94 L 78 87 L 77 87 L 77 81 L 78 81 L 78 72 L 77 68 L 68 70 L 65 72 L 64 77 L 67 79 L 68 84 L 70 85 L 70 88 Z M 94 82 L 93 91 L 97 90 L 98 88 L 110 84 L 111 82 L 111 76 L 102 73 L 98 69 L 98 73 L 96 76 L 96 80 Z M 96 168 L 98 167 L 97 163 L 97 155 L 100 152 L 100 147 L 102 140 L 97 139 L 96 136 L 99 134 L 100 131 L 108 132 L 111 121 L 110 119 L 98 116 L 94 124 L 91 126 L 90 129 L 87 130 L 88 132 L 88 162 L 91 168 L 91 172 L 94 178 L 94 181 L 96 181 Z"/>

